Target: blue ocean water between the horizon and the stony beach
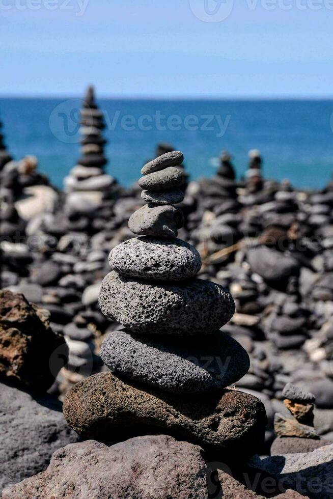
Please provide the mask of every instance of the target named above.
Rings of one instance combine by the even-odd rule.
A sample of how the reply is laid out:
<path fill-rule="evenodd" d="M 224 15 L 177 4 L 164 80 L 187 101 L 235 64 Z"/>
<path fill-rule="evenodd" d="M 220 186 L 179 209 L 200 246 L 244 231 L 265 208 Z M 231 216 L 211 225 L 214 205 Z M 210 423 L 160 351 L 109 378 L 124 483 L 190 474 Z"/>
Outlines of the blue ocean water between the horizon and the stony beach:
<path fill-rule="evenodd" d="M 192 179 L 211 177 L 222 149 L 237 175 L 249 149 L 259 149 L 266 178 L 322 188 L 333 173 L 333 100 L 97 99 L 108 140 L 106 170 L 124 186 L 140 176 L 158 142 L 183 151 Z M 34 154 L 52 183 L 79 157 L 80 99 L 0 99 L 0 120 L 15 158 Z"/>

